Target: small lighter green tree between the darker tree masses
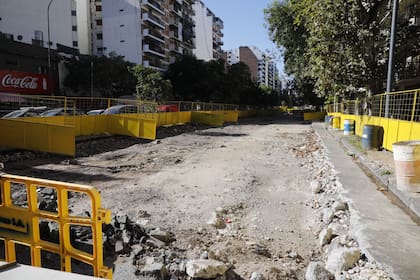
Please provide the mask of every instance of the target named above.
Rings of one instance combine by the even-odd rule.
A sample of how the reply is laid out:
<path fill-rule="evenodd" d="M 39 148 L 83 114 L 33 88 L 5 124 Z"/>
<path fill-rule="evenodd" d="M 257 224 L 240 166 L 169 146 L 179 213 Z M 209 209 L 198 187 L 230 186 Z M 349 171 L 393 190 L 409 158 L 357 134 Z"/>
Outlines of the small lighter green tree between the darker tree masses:
<path fill-rule="evenodd" d="M 145 101 L 166 101 L 172 99 L 172 85 L 153 68 L 137 65 L 132 68 L 137 78 L 136 96 Z"/>

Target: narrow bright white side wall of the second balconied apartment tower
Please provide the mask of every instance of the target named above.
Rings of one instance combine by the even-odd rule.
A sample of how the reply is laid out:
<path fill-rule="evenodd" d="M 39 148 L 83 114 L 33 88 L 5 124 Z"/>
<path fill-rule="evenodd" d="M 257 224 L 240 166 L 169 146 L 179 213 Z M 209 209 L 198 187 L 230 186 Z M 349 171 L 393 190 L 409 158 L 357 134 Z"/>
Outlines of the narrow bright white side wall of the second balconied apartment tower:
<path fill-rule="evenodd" d="M 198 59 L 209 61 L 213 59 L 213 16 L 203 2 L 193 4 L 195 12 L 195 36 L 196 46 L 194 55 Z"/>

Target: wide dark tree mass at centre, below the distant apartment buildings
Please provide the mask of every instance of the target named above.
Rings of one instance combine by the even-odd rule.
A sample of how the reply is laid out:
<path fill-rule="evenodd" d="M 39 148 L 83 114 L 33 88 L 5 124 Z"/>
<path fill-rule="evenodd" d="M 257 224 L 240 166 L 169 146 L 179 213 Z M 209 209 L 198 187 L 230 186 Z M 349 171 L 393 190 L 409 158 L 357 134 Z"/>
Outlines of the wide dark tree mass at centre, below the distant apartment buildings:
<path fill-rule="evenodd" d="M 194 56 L 180 57 L 169 66 L 166 78 L 178 100 L 268 106 L 277 104 L 277 95 L 263 91 L 252 81 L 246 64 L 225 68 L 224 61 L 204 62 Z"/>

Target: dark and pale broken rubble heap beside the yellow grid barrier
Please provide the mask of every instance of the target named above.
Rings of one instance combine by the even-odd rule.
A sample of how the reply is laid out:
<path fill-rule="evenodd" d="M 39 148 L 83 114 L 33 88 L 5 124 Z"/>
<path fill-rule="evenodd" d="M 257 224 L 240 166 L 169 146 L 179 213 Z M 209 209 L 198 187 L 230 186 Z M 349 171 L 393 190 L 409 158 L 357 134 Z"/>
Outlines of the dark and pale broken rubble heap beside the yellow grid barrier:
<path fill-rule="evenodd" d="M 185 250 L 173 245 L 173 233 L 162 228 L 145 228 L 127 215 L 117 215 L 104 225 L 104 257 L 131 258 L 137 276 L 147 279 L 214 279 L 229 270 L 223 262 L 187 259 Z"/>

